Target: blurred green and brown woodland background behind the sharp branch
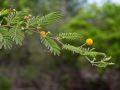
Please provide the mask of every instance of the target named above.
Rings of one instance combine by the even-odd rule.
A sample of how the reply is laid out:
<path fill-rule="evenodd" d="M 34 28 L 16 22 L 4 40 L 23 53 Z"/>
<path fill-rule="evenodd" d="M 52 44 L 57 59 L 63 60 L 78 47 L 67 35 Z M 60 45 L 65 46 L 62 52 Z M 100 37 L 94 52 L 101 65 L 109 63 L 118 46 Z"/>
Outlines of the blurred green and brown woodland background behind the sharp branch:
<path fill-rule="evenodd" d="M 78 54 L 53 56 L 34 35 L 22 46 L 0 50 L 0 90 L 120 90 L 120 0 L 0 0 L 0 10 L 30 9 L 33 15 L 59 11 L 63 18 L 46 28 L 52 33 L 77 32 L 84 43 L 94 39 L 97 51 L 115 63 L 96 68 Z"/>

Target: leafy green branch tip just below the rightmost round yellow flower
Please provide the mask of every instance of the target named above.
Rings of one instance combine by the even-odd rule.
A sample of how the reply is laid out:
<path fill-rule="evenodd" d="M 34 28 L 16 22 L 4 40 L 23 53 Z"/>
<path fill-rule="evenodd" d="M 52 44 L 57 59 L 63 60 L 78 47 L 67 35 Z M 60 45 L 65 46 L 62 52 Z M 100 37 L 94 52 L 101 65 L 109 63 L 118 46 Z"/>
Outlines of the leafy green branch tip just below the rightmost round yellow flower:
<path fill-rule="evenodd" d="M 69 44 L 63 45 L 63 49 L 72 51 L 74 53 L 78 53 L 80 55 L 84 55 L 85 58 L 92 65 L 97 66 L 97 67 L 106 67 L 108 65 L 114 64 L 112 62 L 108 62 L 111 59 L 111 57 L 106 57 L 106 55 L 104 53 L 96 52 L 96 51 L 93 51 L 92 49 L 86 49 L 86 48 L 83 48 L 83 47 L 75 47 L 75 46 L 72 46 L 72 45 L 69 45 Z M 97 56 L 101 56 L 102 59 L 99 60 L 99 61 L 96 61 L 97 60 Z"/>

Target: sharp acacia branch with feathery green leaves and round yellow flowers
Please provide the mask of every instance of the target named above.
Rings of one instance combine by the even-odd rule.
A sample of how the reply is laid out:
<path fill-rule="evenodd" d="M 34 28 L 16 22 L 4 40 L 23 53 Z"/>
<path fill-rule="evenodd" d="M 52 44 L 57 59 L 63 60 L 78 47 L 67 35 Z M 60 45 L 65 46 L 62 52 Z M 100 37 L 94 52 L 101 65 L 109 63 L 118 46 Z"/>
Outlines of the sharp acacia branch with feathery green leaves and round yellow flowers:
<path fill-rule="evenodd" d="M 0 48 L 11 48 L 13 44 L 22 45 L 25 34 L 38 33 L 41 42 L 54 55 L 60 55 L 60 50 L 65 49 L 83 55 L 92 65 L 106 67 L 113 64 L 109 62 L 111 57 L 105 53 L 96 52 L 93 48 L 85 48 L 85 45 L 92 45 L 93 40 L 88 38 L 85 44 L 73 46 L 64 44 L 62 40 L 75 40 L 81 38 L 78 33 L 59 33 L 53 36 L 52 33 L 43 30 L 47 25 L 59 20 L 61 14 L 53 12 L 46 16 L 32 16 L 27 11 L 16 11 L 15 9 L 4 9 L 0 11 Z M 98 58 L 99 57 L 99 58 Z M 101 60 L 98 60 L 101 59 Z"/>

